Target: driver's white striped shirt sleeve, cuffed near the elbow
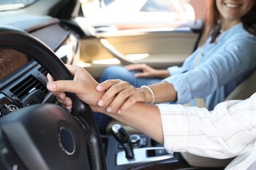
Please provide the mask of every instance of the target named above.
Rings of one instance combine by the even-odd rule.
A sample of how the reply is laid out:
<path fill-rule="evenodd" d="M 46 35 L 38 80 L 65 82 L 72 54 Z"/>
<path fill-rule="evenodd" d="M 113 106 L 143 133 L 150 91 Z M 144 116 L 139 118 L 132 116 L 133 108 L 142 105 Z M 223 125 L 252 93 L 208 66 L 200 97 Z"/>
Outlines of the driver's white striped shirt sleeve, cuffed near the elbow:
<path fill-rule="evenodd" d="M 232 158 L 250 151 L 256 139 L 256 93 L 225 101 L 209 112 L 198 107 L 158 105 L 168 152 Z"/>

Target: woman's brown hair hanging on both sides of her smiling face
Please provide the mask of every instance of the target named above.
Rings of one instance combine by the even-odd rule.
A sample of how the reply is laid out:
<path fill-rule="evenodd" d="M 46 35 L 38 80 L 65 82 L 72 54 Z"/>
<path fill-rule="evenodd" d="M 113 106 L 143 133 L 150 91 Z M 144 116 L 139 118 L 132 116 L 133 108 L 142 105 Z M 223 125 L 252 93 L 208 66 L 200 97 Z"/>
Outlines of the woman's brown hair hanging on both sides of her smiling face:
<path fill-rule="evenodd" d="M 219 25 L 219 19 L 221 18 L 221 14 L 217 9 L 216 0 L 207 0 L 206 1 L 206 16 L 205 16 L 205 24 L 203 28 L 203 35 L 201 44 L 203 44 L 207 37 L 217 28 Z M 253 35 L 256 35 L 256 0 L 255 5 L 241 18 L 242 23 L 244 24 L 244 29 Z"/>

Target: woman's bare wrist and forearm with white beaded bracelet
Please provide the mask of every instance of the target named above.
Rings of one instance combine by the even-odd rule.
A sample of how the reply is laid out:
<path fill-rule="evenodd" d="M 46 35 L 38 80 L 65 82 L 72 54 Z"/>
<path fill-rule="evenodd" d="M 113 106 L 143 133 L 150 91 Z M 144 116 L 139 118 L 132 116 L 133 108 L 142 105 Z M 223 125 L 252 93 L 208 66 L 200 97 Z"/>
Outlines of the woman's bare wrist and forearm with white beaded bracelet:
<path fill-rule="evenodd" d="M 177 100 L 177 92 L 175 92 L 173 85 L 169 84 L 168 82 L 160 82 L 158 84 L 152 84 L 148 87 L 150 87 L 154 93 L 155 104 Z M 138 88 L 138 90 L 144 94 L 145 103 L 152 103 L 153 96 L 150 90 L 146 88 Z"/>

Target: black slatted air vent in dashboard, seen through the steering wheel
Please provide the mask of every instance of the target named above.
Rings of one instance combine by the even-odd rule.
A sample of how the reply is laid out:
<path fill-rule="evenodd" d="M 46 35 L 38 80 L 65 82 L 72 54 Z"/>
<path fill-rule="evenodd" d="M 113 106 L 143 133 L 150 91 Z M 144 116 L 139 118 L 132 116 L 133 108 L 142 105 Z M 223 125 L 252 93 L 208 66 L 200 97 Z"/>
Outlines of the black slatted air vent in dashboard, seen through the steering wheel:
<path fill-rule="evenodd" d="M 28 93 L 33 92 L 33 90 L 41 90 L 45 95 L 48 93 L 47 88 L 32 75 L 22 80 L 22 82 L 11 88 L 10 91 L 21 100 Z"/>

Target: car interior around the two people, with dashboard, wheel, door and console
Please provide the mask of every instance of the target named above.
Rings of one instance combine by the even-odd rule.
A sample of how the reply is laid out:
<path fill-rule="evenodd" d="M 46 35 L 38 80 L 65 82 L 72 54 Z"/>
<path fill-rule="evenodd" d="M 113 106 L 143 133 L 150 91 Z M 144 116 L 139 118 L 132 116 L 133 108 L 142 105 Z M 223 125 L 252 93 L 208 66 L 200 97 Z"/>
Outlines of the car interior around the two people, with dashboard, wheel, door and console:
<path fill-rule="evenodd" d="M 96 80 L 110 65 L 182 65 L 200 42 L 203 14 L 158 27 L 93 27 L 79 0 L 26 2 L 0 4 L 0 169 L 224 169 L 233 159 L 167 153 L 115 120 L 101 135 L 86 103 L 67 93 L 69 112 L 46 88 L 48 73 L 72 80 L 64 64 L 84 67 Z M 226 100 L 249 97 L 255 78 L 253 71 Z"/>

